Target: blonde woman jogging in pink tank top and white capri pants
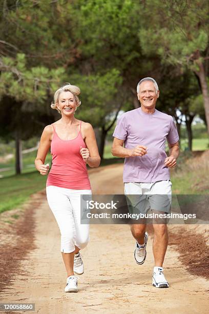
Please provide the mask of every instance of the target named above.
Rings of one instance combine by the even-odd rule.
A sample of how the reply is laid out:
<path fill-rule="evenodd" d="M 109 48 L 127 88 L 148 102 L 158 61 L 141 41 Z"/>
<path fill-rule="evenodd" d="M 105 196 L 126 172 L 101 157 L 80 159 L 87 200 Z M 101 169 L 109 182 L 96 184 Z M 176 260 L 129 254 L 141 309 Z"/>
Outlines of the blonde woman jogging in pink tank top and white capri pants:
<path fill-rule="evenodd" d="M 84 271 L 79 250 L 89 241 L 89 225 L 80 224 L 80 195 L 91 198 L 87 167 L 98 167 L 100 157 L 94 130 L 89 123 L 77 120 L 74 113 L 80 105 L 77 86 L 67 85 L 54 94 L 52 109 L 61 119 L 45 127 L 35 159 L 42 175 L 49 171 L 45 165 L 51 147 L 52 167 L 47 178 L 47 200 L 61 233 L 61 254 L 67 270 L 65 292 L 77 292 L 76 274 Z"/>

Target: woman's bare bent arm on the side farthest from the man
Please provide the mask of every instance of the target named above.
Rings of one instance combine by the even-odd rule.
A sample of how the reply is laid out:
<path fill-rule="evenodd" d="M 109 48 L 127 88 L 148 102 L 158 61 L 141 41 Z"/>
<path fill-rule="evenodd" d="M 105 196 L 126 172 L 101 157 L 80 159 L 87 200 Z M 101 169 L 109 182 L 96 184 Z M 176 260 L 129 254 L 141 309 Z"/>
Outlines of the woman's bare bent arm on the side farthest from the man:
<path fill-rule="evenodd" d="M 51 146 L 51 137 L 53 134 L 53 127 L 47 125 L 40 138 L 40 144 L 38 147 L 37 156 L 35 159 L 35 167 L 40 172 L 40 174 L 45 175 L 49 171 L 49 164 L 45 165 L 46 155 Z"/>

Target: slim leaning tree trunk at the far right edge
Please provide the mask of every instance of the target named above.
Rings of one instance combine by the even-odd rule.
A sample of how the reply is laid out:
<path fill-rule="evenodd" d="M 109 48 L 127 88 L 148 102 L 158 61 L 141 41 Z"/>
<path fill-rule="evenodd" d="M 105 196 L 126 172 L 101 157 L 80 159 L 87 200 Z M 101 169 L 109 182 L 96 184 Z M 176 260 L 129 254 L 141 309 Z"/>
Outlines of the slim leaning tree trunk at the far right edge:
<path fill-rule="evenodd" d="M 205 119 L 207 123 L 207 132 L 209 134 L 209 94 L 208 94 L 208 88 L 207 88 L 207 81 L 206 81 L 205 71 L 204 71 L 202 62 L 197 60 L 196 63 L 199 66 L 199 71 L 196 71 L 196 74 L 198 75 L 200 79 L 200 85 L 201 85 L 202 95 L 203 95 L 204 110 L 205 110 Z"/>

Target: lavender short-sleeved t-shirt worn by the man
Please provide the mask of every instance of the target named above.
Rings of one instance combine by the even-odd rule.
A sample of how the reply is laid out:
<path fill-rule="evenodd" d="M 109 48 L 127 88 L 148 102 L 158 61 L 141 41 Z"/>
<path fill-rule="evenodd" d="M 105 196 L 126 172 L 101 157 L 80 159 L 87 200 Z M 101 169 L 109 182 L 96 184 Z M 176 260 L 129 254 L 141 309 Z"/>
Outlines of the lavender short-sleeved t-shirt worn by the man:
<path fill-rule="evenodd" d="M 125 159 L 123 182 L 156 182 L 169 180 L 169 168 L 164 165 L 165 141 L 178 142 L 179 136 L 171 115 L 155 109 L 145 113 L 137 108 L 121 115 L 113 136 L 124 140 L 125 148 L 146 146 L 147 154 Z"/>

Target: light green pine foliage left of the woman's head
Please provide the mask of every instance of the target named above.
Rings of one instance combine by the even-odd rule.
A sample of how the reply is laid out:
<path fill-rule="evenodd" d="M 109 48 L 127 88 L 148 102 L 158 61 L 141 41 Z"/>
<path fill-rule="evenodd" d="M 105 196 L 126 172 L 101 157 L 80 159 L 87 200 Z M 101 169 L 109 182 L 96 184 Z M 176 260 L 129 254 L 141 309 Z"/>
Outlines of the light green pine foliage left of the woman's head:
<path fill-rule="evenodd" d="M 26 57 L 18 53 L 16 58 L 3 57 L 1 60 L 0 96 L 9 95 L 17 102 L 42 105 L 48 92 L 59 84 L 64 75 L 63 68 L 48 69 L 37 66 L 27 68 Z"/>

